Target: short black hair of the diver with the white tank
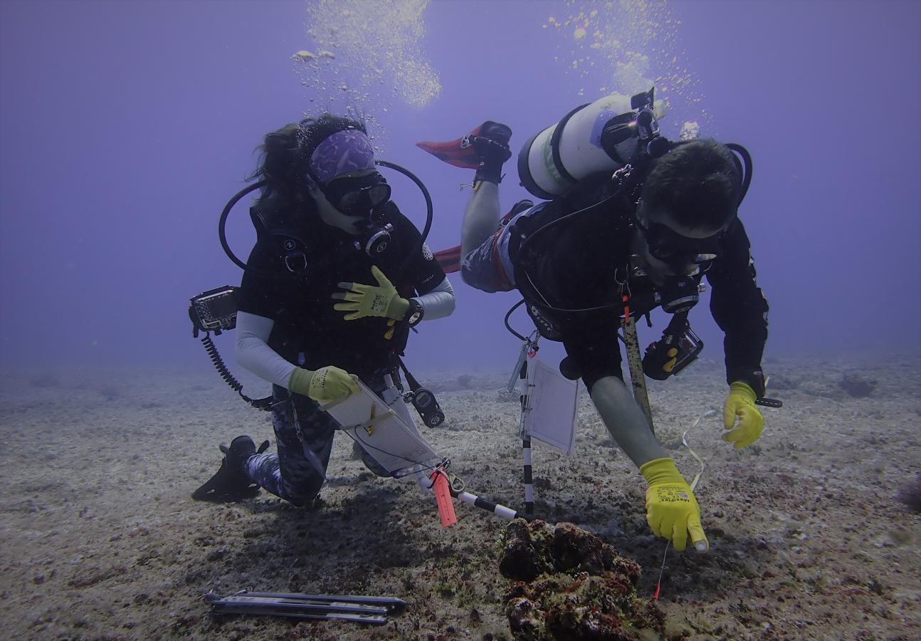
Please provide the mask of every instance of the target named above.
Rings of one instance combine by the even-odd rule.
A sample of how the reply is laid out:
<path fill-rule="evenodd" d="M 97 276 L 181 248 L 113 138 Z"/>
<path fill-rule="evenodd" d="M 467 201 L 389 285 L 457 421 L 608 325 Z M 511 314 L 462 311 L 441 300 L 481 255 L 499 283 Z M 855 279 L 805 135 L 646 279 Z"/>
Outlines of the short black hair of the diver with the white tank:
<path fill-rule="evenodd" d="M 722 229 L 739 206 L 738 161 L 715 140 L 694 140 L 660 157 L 643 183 L 651 211 L 666 211 L 688 229 Z"/>

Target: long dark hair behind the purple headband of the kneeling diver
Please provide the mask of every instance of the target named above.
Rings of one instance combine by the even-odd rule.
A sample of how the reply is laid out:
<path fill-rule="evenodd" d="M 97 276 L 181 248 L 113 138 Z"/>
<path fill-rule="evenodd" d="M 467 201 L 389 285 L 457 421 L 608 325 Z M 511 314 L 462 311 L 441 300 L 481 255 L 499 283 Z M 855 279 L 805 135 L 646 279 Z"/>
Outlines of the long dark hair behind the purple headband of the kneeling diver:
<path fill-rule="evenodd" d="M 294 204 L 306 198 L 306 177 L 311 154 L 322 141 L 336 132 L 357 129 L 367 134 L 363 122 L 323 113 L 317 118 L 291 122 L 265 135 L 259 147 L 259 162 L 248 177 L 250 181 L 265 181 L 257 203 L 283 201 Z"/>

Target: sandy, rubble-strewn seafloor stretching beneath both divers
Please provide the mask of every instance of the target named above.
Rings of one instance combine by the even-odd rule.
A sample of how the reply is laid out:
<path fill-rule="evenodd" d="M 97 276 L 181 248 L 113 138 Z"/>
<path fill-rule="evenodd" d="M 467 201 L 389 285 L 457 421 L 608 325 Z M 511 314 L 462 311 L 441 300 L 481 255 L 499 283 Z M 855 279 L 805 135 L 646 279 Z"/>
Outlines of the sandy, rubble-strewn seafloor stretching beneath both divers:
<path fill-rule="evenodd" d="M 337 436 L 321 506 L 262 492 L 240 504 L 190 499 L 238 434 L 271 438 L 268 414 L 211 370 L 6 370 L 0 385 L 0 636 L 10 639 L 499 639 L 506 522 L 457 504 L 443 529 L 414 484 L 381 480 Z M 921 516 L 894 497 L 921 469 L 921 359 L 774 360 L 764 437 L 734 452 L 717 418 L 690 436 L 706 460 L 697 491 L 711 549 L 671 552 L 660 607 L 672 637 L 921 638 Z M 867 398 L 838 386 L 877 379 Z M 461 372 L 460 374 L 464 374 Z M 519 404 L 506 376 L 424 377 L 446 425 L 424 429 L 468 489 L 521 507 Z M 246 379 L 250 380 L 250 379 Z M 659 437 L 689 478 L 681 433 L 720 409 L 722 367 L 702 360 L 651 388 Z M 249 388 L 253 395 L 263 388 Z M 535 444 L 536 516 L 596 532 L 643 566 L 651 596 L 665 543 L 644 517 L 645 483 L 612 445 L 588 395 L 577 447 Z M 251 587 L 408 601 L 380 627 L 213 618 L 203 596 Z"/>

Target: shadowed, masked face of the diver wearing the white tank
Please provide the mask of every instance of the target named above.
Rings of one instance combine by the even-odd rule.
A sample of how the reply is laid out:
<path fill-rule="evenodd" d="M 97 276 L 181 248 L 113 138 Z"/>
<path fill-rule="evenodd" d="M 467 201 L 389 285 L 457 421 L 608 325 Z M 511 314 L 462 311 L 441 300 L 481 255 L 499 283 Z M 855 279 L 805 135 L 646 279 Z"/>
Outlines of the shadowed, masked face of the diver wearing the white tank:
<path fill-rule="evenodd" d="M 706 253 L 707 245 L 712 245 L 706 241 L 719 229 L 682 227 L 669 212 L 652 210 L 643 201 L 636 209 L 636 222 L 633 253 L 657 285 L 672 276 L 695 274 L 704 256 L 715 257 Z"/>

